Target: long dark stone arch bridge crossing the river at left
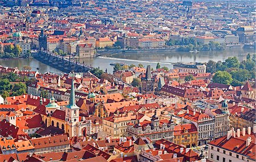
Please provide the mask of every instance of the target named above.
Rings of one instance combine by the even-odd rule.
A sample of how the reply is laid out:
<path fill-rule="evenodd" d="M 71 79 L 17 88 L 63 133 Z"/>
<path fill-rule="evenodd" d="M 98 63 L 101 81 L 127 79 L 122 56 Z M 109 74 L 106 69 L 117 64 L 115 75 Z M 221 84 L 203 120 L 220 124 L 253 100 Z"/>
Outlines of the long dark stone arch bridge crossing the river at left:
<path fill-rule="evenodd" d="M 74 61 L 69 57 L 69 59 L 56 55 L 54 53 L 49 53 L 47 51 L 39 51 L 34 55 L 35 59 L 47 64 L 53 68 L 59 69 L 62 72 L 69 73 L 69 72 L 88 72 L 88 70 L 92 69 L 88 65 L 81 64 L 77 61 Z"/>

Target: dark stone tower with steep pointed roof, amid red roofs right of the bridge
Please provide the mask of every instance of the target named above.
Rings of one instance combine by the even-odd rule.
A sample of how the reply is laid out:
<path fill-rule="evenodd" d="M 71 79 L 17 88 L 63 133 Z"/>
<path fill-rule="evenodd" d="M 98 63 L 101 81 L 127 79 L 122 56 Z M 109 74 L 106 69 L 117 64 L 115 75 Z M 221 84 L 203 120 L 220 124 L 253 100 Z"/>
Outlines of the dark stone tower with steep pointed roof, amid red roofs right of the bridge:
<path fill-rule="evenodd" d="M 142 87 L 141 87 L 142 94 L 154 93 L 154 80 L 151 78 L 150 65 L 147 65 L 146 77 L 143 77 L 141 81 L 142 81 Z"/>

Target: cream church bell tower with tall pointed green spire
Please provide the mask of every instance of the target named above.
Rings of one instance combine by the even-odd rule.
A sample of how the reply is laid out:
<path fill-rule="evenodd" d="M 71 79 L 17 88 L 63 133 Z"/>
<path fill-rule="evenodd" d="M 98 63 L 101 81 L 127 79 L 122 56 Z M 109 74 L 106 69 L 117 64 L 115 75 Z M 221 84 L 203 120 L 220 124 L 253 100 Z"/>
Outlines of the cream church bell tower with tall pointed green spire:
<path fill-rule="evenodd" d="M 72 78 L 71 94 L 69 98 L 69 104 L 65 110 L 65 121 L 67 122 L 67 128 L 65 133 L 68 133 L 70 137 L 77 136 L 77 122 L 79 122 L 79 107 L 76 105 L 74 78 Z"/>

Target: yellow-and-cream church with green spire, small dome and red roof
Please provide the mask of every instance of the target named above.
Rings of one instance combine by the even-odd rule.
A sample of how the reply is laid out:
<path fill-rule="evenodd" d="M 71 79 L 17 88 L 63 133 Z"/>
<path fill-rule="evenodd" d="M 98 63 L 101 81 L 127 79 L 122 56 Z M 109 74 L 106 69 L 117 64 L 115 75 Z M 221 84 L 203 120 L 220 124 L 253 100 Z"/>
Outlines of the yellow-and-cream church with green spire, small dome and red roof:
<path fill-rule="evenodd" d="M 80 107 L 76 105 L 74 80 L 72 78 L 71 96 L 69 105 L 60 110 L 60 106 L 52 97 L 48 105 L 43 105 L 43 99 L 40 99 L 40 105 L 34 110 L 42 116 L 43 122 L 47 127 L 54 126 L 64 130 L 69 137 L 90 135 L 92 130 L 92 121 L 86 120 L 85 117 L 79 117 Z"/>

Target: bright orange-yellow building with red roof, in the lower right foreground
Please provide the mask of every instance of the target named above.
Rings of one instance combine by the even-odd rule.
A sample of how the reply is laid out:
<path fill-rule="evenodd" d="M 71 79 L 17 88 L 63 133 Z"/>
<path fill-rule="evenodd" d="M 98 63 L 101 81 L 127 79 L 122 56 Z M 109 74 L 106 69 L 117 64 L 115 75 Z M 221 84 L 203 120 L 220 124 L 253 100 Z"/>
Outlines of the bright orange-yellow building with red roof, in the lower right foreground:
<path fill-rule="evenodd" d="M 180 124 L 174 126 L 174 143 L 185 147 L 197 146 L 198 132 L 194 124 Z"/>

